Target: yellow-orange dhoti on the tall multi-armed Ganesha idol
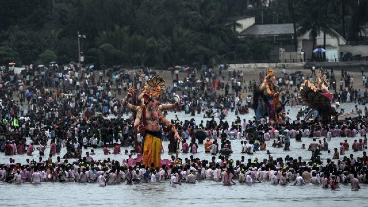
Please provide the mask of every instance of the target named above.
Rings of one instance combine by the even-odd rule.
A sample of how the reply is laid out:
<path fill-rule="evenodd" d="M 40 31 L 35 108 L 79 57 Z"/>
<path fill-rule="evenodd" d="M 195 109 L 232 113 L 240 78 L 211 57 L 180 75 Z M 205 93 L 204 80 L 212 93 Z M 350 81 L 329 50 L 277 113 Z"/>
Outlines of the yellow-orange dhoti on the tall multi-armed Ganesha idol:
<path fill-rule="evenodd" d="M 160 131 L 146 131 L 144 138 L 142 162 L 147 167 L 154 164 L 154 168 L 161 167 L 161 137 Z"/>

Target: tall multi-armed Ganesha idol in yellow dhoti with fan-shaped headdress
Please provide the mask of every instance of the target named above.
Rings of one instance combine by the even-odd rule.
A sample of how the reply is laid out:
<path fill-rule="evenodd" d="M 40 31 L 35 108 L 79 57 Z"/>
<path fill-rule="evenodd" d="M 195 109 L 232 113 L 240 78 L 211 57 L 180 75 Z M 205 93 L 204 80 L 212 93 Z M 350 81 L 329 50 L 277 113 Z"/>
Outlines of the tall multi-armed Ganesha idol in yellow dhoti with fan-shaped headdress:
<path fill-rule="evenodd" d="M 145 166 L 154 168 L 161 167 L 161 126 L 165 131 L 172 131 L 175 139 L 181 140 L 173 124 L 162 115 L 163 110 L 173 109 L 179 105 L 178 102 L 160 105 L 162 90 L 166 88 L 164 84 L 165 81 L 159 76 L 146 81 L 141 94 L 138 95 L 138 99 L 142 99 L 144 103 L 141 106 L 128 103 L 128 99 L 136 92 L 134 87 L 129 88 L 129 92 L 123 101 L 126 108 L 136 113 L 134 129 L 139 130 L 141 135 L 144 136 L 142 162 Z"/>

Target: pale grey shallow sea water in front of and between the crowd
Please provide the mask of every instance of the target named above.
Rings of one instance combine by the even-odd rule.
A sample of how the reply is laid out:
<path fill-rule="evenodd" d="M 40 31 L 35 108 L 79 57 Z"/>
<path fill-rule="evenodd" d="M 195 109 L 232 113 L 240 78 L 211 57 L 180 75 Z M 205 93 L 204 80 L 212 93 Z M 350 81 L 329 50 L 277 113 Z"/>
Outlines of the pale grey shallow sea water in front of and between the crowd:
<path fill-rule="evenodd" d="M 345 111 L 351 111 L 354 108 L 353 104 L 344 103 L 340 108 L 345 108 Z M 362 111 L 364 106 L 358 106 Z M 300 108 L 286 107 L 286 110 L 290 110 L 290 117 L 295 119 L 296 113 Z M 181 121 L 185 119 L 191 119 L 193 116 L 184 115 L 184 112 L 176 113 Z M 203 113 L 201 114 L 203 116 Z M 197 120 L 197 124 L 202 119 L 201 116 L 194 117 Z M 240 118 L 251 119 L 254 116 L 252 110 L 250 114 L 241 115 Z M 173 119 L 175 113 L 169 113 L 168 118 Z M 232 122 L 235 119 L 233 113 L 229 113 L 226 118 L 228 122 Z M 218 119 L 216 121 L 219 121 Z M 323 137 L 321 137 L 323 139 Z M 354 139 L 359 139 L 358 135 L 355 138 L 349 138 L 348 142 L 351 146 Z M 329 141 L 329 149 L 333 152 L 333 148 L 339 147 L 339 142 L 343 141 L 344 137 L 332 138 Z M 241 140 L 231 141 L 234 153 L 231 158 L 239 160 L 241 156 Z M 272 156 L 285 157 L 290 155 L 297 158 L 303 157 L 303 161 L 308 161 L 311 156 L 311 152 L 308 150 L 302 150 L 301 145 L 304 143 L 308 147 L 312 141 L 311 138 L 302 138 L 302 142 L 295 142 L 291 140 L 290 151 L 283 151 L 282 148 L 273 148 L 273 140 L 266 142 L 266 150 L 270 150 Z M 318 141 L 318 139 L 317 139 Z M 171 158 L 171 154 L 167 153 L 168 142 L 163 142 L 164 154 L 162 159 Z M 126 148 L 130 151 L 132 148 Z M 89 148 L 91 150 L 91 148 Z M 125 148 L 121 148 L 124 152 Z M 46 155 L 49 152 L 49 148 L 46 149 Z M 64 155 L 66 149 L 61 150 L 60 156 Z M 85 154 L 86 151 L 83 152 Z M 92 157 L 96 159 L 106 159 L 110 157 L 118 161 L 127 159 L 128 155 L 103 155 L 102 149 L 95 150 L 96 155 Z M 37 150 L 32 156 L 38 161 Z M 352 150 L 346 151 L 346 155 L 353 154 L 354 157 L 361 157 L 362 151 L 353 152 Z M 181 153 L 179 157 L 189 157 L 191 154 Z M 253 155 L 244 155 L 245 159 L 255 157 L 259 161 L 263 158 L 268 158 L 266 151 L 258 151 Z M 212 155 L 204 153 L 203 145 L 199 145 L 198 153 L 194 157 L 210 160 Z M 0 154 L 0 163 L 8 162 L 10 157 Z M 27 155 L 15 155 L 13 156 L 16 162 L 24 163 L 26 158 L 31 157 Z M 332 154 L 328 155 L 326 151 L 322 152 L 321 158 L 326 161 L 326 158 L 332 158 Z M 340 159 L 342 156 L 340 155 Z M 46 160 L 47 156 L 43 157 Z M 56 159 L 56 158 L 53 158 Z M 158 182 L 155 184 L 142 183 L 139 185 L 125 185 L 120 184 L 116 186 L 99 187 L 98 184 L 80 184 L 80 183 L 42 183 L 41 185 L 22 184 L 21 186 L 13 184 L 0 184 L 0 202 L 3 206 L 50 206 L 50 204 L 56 204 L 57 206 L 118 206 L 121 204 L 128 205 L 147 205 L 163 206 L 163 204 L 172 205 L 176 203 L 177 206 L 184 206 L 188 204 L 194 204 L 196 206 L 230 206 L 230 205 L 244 205 L 244 204 L 259 204 L 261 206 L 311 206 L 311 205 L 323 205 L 323 206 L 343 206 L 343 205 L 355 205 L 366 206 L 368 199 L 367 185 L 361 185 L 362 189 L 359 191 L 351 191 L 351 186 L 340 185 L 340 189 L 331 190 L 323 189 L 321 186 L 306 185 L 306 186 L 293 186 L 288 184 L 287 186 L 272 186 L 270 182 L 255 183 L 255 185 L 247 186 L 239 184 L 236 181 L 236 185 L 223 186 L 222 183 L 217 183 L 209 180 L 204 180 L 196 184 L 185 184 L 181 186 L 171 187 L 169 181 Z M 18 196 L 15 196 L 18 195 Z M 19 196 L 21 195 L 21 196 Z M 339 203 L 337 204 L 336 201 Z M 51 202 L 51 203 L 50 203 Z"/>

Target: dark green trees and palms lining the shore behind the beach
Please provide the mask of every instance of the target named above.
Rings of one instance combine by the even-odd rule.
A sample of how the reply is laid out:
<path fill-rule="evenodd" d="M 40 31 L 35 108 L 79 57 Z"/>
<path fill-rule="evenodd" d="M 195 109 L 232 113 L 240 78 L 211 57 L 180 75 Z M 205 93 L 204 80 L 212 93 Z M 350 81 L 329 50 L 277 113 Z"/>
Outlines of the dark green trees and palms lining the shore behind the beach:
<path fill-rule="evenodd" d="M 318 16 L 316 32 L 329 32 L 334 25 L 347 39 L 362 39 L 367 0 L 360 5 L 328 2 L 323 7 L 328 12 Z M 77 61 L 78 31 L 86 36 L 80 39 L 85 63 L 164 68 L 214 60 L 265 60 L 270 43 L 257 38 L 240 41 L 233 29 L 238 25 L 231 18 L 254 16 L 257 24 L 269 24 L 276 23 L 278 13 L 278 23 L 313 25 L 305 14 L 318 6 L 318 1 L 305 0 L 2 1 L 0 64 Z"/>

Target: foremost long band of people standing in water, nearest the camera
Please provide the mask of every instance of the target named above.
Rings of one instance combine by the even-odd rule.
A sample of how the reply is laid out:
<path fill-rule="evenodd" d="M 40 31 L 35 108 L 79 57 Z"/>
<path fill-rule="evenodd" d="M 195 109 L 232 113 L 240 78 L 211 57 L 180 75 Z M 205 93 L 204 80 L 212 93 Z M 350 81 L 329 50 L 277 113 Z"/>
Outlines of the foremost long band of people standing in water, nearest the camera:
<path fill-rule="evenodd" d="M 288 136 L 287 133 L 285 136 Z M 247 147 L 244 148 L 242 152 L 253 153 L 252 150 L 247 150 Z M 93 155 L 91 156 L 89 152 L 86 152 L 82 159 L 71 162 L 68 159 L 61 161 L 60 157 L 53 161 L 51 154 L 46 161 L 39 157 L 39 161 L 26 159 L 24 164 L 10 158 L 8 163 L 0 165 L 0 180 L 18 185 L 21 183 L 77 182 L 96 183 L 100 186 L 123 182 L 128 185 L 142 182 L 155 183 L 165 180 L 169 181 L 172 186 L 202 180 L 222 182 L 224 185 L 236 183 L 253 185 L 256 181 L 269 181 L 271 185 L 311 183 L 331 189 L 350 183 L 353 190 L 360 189 L 360 183 L 368 183 L 366 168 L 368 157 L 365 151 L 362 157 L 357 157 L 357 159 L 350 154 L 349 158 L 345 156 L 337 162 L 328 158 L 324 164 L 319 157 L 318 144 L 311 143 L 309 148 L 312 150 L 312 156 L 308 161 L 302 161 L 302 157 L 293 158 L 289 155 L 284 158 L 273 158 L 269 155 L 269 159 L 263 159 L 263 161 L 258 161 L 257 158 L 245 160 L 245 156 L 234 161 L 229 155 L 219 155 L 218 158 L 213 156 L 208 161 L 194 158 L 191 155 L 190 158 L 181 160 L 180 165 L 173 165 L 173 157 L 171 164 L 162 165 L 161 168 L 156 169 L 140 163 L 133 166 L 121 165 L 119 161 L 110 160 L 110 158 L 94 160 Z M 211 153 L 213 153 L 212 150 Z M 336 153 L 338 154 L 335 148 Z"/>

